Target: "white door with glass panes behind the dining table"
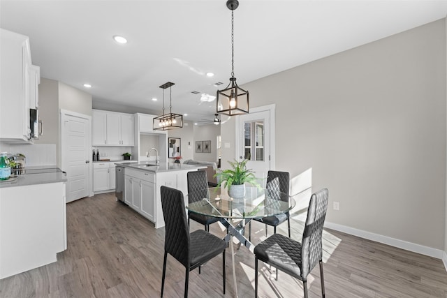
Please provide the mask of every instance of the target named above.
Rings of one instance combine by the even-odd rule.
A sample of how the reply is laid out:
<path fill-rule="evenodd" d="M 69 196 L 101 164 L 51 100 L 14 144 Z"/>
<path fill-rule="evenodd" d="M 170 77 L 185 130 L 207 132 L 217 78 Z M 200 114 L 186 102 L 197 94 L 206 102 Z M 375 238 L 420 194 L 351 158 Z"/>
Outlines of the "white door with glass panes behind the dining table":
<path fill-rule="evenodd" d="M 274 105 L 258 107 L 236 120 L 237 144 L 235 156 L 238 161 L 247 159 L 247 168 L 259 179 L 274 169 Z M 265 180 L 260 181 L 261 185 Z"/>

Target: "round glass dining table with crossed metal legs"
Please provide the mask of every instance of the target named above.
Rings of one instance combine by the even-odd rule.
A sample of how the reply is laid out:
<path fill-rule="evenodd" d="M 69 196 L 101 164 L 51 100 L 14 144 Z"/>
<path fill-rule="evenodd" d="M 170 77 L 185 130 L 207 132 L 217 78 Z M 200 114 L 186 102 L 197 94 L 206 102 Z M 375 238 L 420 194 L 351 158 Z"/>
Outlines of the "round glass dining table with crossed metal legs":
<path fill-rule="evenodd" d="M 188 196 L 196 198 L 186 207 L 190 212 L 219 218 L 220 223 L 228 230 L 224 239 L 229 242 L 231 249 L 233 281 L 237 297 L 233 237 L 239 241 L 238 246 L 242 244 L 253 253 L 254 245 L 244 236 L 245 225 L 253 218 L 290 211 L 295 207 L 295 200 L 286 193 L 251 186 L 245 187 L 244 196 L 240 198 L 231 197 L 223 187 L 201 189 L 189 193 Z M 233 225 L 233 222 L 237 224 Z"/>

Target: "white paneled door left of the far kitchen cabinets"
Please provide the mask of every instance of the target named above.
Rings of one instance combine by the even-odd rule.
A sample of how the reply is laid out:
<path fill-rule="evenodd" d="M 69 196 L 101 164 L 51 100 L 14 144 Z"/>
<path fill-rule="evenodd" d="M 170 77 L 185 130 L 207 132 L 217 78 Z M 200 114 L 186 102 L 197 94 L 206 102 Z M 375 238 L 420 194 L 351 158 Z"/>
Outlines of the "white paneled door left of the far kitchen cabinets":
<path fill-rule="evenodd" d="M 61 161 L 62 170 L 67 173 L 67 202 L 89 195 L 90 127 L 90 117 L 61 111 Z"/>

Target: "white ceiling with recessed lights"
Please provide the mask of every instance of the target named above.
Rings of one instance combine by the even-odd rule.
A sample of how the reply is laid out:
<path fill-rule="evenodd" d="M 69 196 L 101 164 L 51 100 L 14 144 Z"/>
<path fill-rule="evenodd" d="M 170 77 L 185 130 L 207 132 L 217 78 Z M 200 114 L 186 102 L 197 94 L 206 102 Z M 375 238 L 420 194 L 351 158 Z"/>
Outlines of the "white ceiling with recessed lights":
<path fill-rule="evenodd" d="M 241 85 L 446 15 L 447 1 L 241 0 L 235 77 Z M 228 84 L 230 20 L 226 0 L 0 2 L 0 27 L 29 36 L 41 77 L 84 89 L 98 103 L 156 114 L 159 86 L 174 82 L 173 112 L 188 113 L 186 120 L 214 118 L 215 101 L 200 104 L 191 91 L 215 95 L 214 83 Z M 118 45 L 114 35 L 129 42 Z"/>

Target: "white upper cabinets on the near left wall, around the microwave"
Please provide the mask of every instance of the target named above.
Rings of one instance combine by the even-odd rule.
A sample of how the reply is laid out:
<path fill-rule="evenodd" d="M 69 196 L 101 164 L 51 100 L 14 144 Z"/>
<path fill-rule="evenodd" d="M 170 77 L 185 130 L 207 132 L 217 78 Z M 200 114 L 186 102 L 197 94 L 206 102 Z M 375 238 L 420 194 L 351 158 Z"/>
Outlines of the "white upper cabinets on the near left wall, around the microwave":
<path fill-rule="evenodd" d="M 29 142 L 29 109 L 38 107 L 40 70 L 31 64 L 27 36 L 0 29 L 0 53 L 0 140 Z"/>

